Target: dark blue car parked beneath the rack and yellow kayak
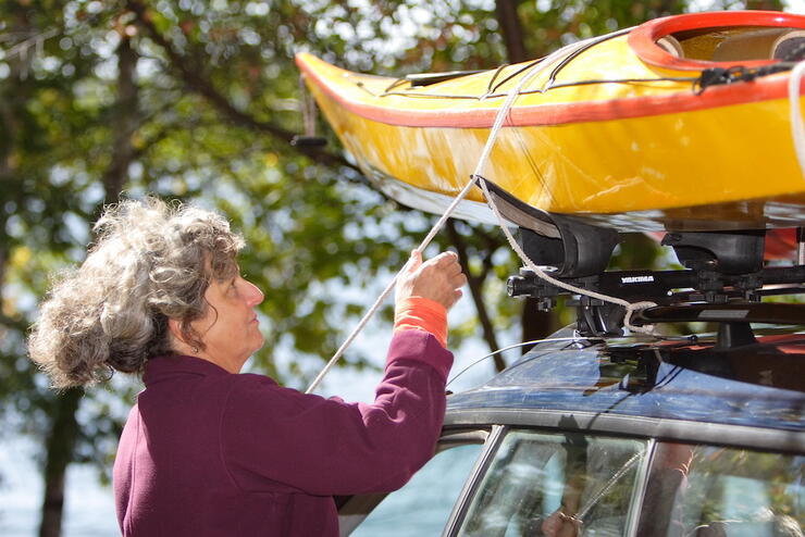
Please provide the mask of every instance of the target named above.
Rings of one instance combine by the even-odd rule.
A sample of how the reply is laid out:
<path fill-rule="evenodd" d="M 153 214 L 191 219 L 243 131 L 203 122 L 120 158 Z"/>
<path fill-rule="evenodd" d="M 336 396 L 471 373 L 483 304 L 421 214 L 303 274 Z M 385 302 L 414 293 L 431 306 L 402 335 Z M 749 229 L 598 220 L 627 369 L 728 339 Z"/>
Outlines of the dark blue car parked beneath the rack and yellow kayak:
<path fill-rule="evenodd" d="M 624 337 L 617 312 L 580 305 L 575 326 L 448 397 L 437 453 L 406 487 L 340 499 L 342 534 L 802 536 L 805 304 L 760 298 L 775 280 L 801 292 L 804 268 L 754 271 L 748 290 L 716 271 L 636 319 L 707 322 L 696 335 Z"/>

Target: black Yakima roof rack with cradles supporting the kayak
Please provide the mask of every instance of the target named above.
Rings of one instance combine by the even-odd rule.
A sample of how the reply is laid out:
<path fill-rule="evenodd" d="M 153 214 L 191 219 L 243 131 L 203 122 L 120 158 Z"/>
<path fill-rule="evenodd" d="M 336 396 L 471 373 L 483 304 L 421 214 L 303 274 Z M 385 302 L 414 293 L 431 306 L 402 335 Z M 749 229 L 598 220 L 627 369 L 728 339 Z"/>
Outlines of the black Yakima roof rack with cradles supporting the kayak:
<path fill-rule="evenodd" d="M 577 217 L 537 211 L 487 183 L 501 213 L 520 226 L 519 241 L 537 265 L 553 267 L 552 276 L 572 286 L 622 298 L 659 304 L 635 317 L 635 324 L 707 321 L 729 325 L 725 345 L 754 340 L 750 323 L 805 324 L 805 304 L 760 304 L 771 295 L 805 294 L 805 233 L 800 228 L 798 264 L 764 266 L 765 229 L 670 232 L 661 241 L 671 247 L 679 271 L 606 271 L 619 233 Z M 511 297 L 532 297 L 547 311 L 560 296 L 577 305 L 578 330 L 584 336 L 619 336 L 624 308 L 571 292 L 521 268 L 510 276 Z M 743 304 L 740 309 L 735 304 Z M 669 307 L 671 307 L 669 309 Z M 742 313 L 740 316 L 738 312 Z M 733 336 L 731 336 L 733 334 Z M 739 334 L 743 334 L 740 336 Z"/>

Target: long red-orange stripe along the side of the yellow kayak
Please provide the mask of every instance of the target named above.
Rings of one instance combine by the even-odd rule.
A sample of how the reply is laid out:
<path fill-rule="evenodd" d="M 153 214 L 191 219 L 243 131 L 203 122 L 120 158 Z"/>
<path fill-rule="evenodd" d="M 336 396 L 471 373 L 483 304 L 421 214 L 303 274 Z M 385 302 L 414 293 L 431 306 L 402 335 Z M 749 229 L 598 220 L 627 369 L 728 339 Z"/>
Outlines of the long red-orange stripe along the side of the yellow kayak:
<path fill-rule="evenodd" d="M 299 68 L 323 89 L 333 100 L 349 112 L 367 120 L 405 127 L 456 127 L 488 128 L 495 122 L 498 108 L 475 110 L 397 110 L 376 104 L 349 100 L 330 87 L 301 58 L 297 57 Z M 729 86 L 707 88 L 702 95 L 676 92 L 665 96 L 612 99 L 608 101 L 586 101 L 561 104 L 538 104 L 512 107 L 504 125 L 545 126 L 564 125 L 596 121 L 611 121 L 631 117 L 664 115 L 680 112 L 708 110 L 733 104 L 769 101 L 788 97 L 788 76 L 771 76 L 751 83 L 736 83 Z M 805 91 L 805 82 L 800 95 Z M 504 99 L 498 100 L 503 104 Z"/>

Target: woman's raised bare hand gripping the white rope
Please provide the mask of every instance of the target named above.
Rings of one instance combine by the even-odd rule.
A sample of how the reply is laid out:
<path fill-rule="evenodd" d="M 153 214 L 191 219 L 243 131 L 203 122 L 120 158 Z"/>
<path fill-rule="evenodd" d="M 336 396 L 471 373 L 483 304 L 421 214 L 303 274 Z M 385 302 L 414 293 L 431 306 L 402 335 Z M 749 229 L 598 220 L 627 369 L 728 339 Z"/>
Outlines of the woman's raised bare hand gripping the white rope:
<path fill-rule="evenodd" d="M 461 298 L 465 284 L 467 276 L 461 272 L 455 252 L 443 252 L 422 262 L 422 253 L 413 250 L 406 268 L 397 278 L 395 301 L 399 303 L 409 297 L 423 297 L 449 310 Z"/>

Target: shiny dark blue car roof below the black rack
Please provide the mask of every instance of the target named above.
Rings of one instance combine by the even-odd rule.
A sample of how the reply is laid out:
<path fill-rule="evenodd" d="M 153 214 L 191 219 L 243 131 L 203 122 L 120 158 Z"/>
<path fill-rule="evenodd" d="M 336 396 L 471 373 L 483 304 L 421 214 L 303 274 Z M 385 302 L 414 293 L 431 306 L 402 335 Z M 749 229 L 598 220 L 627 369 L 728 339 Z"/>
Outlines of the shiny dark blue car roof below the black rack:
<path fill-rule="evenodd" d="M 707 337 L 585 339 L 564 332 L 483 386 L 451 395 L 446 423 L 727 435 L 727 444 L 758 447 L 783 438 L 781 449 L 805 451 L 804 363 L 805 334 L 797 333 L 719 349 Z M 775 430 L 780 438 L 768 436 Z"/>

